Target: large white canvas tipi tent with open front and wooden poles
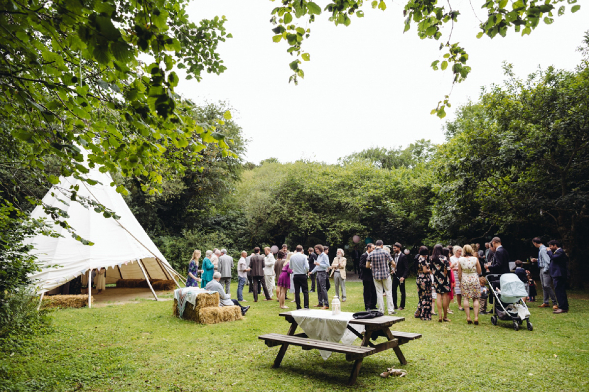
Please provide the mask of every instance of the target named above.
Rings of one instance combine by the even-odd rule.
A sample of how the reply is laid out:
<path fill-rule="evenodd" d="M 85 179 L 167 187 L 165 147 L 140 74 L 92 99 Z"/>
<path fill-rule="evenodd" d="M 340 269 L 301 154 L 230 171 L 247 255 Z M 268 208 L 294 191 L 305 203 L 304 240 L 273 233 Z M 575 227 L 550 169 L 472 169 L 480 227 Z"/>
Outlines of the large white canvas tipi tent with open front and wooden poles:
<path fill-rule="evenodd" d="M 110 186 L 110 175 L 94 168 L 90 169 L 87 177 L 98 181 L 98 184 L 89 185 L 74 177 L 61 177 L 59 184 L 51 187 L 42 202 L 65 210 L 70 216 L 66 220 L 74 228 L 75 233 L 94 245 L 82 244 L 72 238 L 66 229 L 55 224 L 53 229 L 62 234 L 62 237 L 39 234 L 29 238 L 27 242 L 34 245 L 31 253 L 38 257 L 42 267 L 41 272 L 31 276 L 37 285 L 37 292 L 44 294 L 84 275 L 89 270 L 106 268 L 107 284 L 118 279 L 146 279 L 157 300 L 149 279 L 173 279 L 176 282 L 174 275 L 182 279 L 183 277 L 170 266 L 145 233 L 123 196 Z M 77 201 L 72 201 L 71 186 L 78 186 L 78 199 L 81 196 L 94 200 L 115 212 L 120 218 L 105 218 L 101 213 L 95 212 L 93 207 L 85 207 Z M 35 207 L 31 217 L 46 217 L 48 223 L 53 222 L 41 206 Z M 51 267 L 55 264 L 58 267 Z M 90 273 L 88 276 L 91 280 Z M 178 285 L 177 282 L 176 284 Z M 91 283 L 88 286 L 91 290 Z M 90 300 L 88 304 L 91 306 Z"/>

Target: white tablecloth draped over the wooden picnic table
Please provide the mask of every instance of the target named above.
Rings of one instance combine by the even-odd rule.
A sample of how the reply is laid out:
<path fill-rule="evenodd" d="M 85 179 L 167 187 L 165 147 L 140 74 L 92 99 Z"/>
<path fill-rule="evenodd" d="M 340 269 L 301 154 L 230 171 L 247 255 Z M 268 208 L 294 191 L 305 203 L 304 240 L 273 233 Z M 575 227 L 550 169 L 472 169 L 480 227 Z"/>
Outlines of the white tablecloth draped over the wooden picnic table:
<path fill-rule="evenodd" d="M 351 311 L 342 311 L 335 316 L 331 310 L 315 309 L 293 310 L 290 314 L 311 339 L 333 342 L 341 340 L 343 344 L 352 344 L 358 338 L 346 328 L 348 322 L 353 319 Z M 364 333 L 362 325 L 352 324 L 351 327 L 359 333 Z M 327 360 L 331 355 L 331 351 L 319 350 L 319 353 L 324 360 Z"/>

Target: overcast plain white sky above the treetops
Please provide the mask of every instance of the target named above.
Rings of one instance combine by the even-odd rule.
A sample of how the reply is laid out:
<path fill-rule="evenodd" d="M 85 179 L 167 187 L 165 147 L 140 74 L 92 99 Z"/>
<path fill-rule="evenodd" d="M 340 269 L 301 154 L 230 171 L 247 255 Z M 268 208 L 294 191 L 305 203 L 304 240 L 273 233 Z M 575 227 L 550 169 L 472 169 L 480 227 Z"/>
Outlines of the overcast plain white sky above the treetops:
<path fill-rule="evenodd" d="M 469 53 L 472 72 L 454 86 L 452 109 L 440 120 L 429 112 L 452 89 L 449 68 L 442 72 L 429 67 L 441 59 L 440 41 L 419 39 L 415 26 L 402 33 L 404 1 L 387 1 L 385 12 L 369 3 L 365 18 L 354 16 L 348 27 L 333 25 L 327 15 L 309 25 L 311 36 L 303 48 L 311 61 L 303 62 L 305 79 L 294 86 L 288 82 L 293 58 L 286 43 L 272 42 L 270 11 L 278 2 L 193 0 L 188 10 L 194 22 L 225 15 L 233 38 L 219 46 L 227 71 L 206 74 L 200 83 L 183 81 L 177 91 L 196 102 L 228 102 L 250 140 L 250 162 L 273 156 L 281 162 L 305 158 L 335 163 L 370 146 L 396 148 L 417 139 L 443 142 L 442 126 L 454 118 L 453 109 L 476 100 L 481 86 L 504 80 L 503 61 L 513 63 L 522 78 L 538 65 L 573 69 L 581 59 L 575 48 L 589 29 L 583 22 L 589 19 L 589 6 L 583 5 L 575 14 L 555 17 L 550 26 L 541 22 L 530 36 L 509 32 L 507 38 L 476 39 L 478 21 L 469 2 L 452 2 L 462 12 L 452 41 L 461 42 Z M 481 9 L 475 11 L 484 18 Z"/>

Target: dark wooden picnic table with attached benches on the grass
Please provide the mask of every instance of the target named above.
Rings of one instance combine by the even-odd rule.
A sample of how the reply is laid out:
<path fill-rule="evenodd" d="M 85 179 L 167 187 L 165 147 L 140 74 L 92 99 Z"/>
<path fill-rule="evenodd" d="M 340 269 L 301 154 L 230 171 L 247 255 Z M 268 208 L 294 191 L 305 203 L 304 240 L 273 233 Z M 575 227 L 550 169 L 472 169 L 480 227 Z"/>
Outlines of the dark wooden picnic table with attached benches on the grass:
<path fill-rule="evenodd" d="M 326 316 L 332 313 L 330 310 L 325 310 L 325 312 Z M 266 346 L 268 347 L 281 346 L 272 367 L 280 366 L 284 354 L 290 345 L 301 346 L 303 350 L 319 349 L 334 351 L 336 353 L 343 353 L 346 354 L 346 360 L 354 361 L 352 373 L 350 374 L 350 378 L 348 380 L 348 385 L 353 385 L 356 383 L 356 378 L 358 378 L 358 373 L 362 367 L 362 360 L 364 357 L 379 353 L 380 351 L 393 349 L 399 361 L 402 364 L 406 364 L 407 361 L 405 360 L 405 356 L 403 356 L 399 346 L 401 346 L 401 344 L 408 343 L 411 340 L 421 338 L 421 334 L 418 333 L 391 331 L 390 327 L 393 324 L 405 321 L 405 317 L 381 316 L 375 317 L 374 319 L 352 319 L 349 321 L 346 328 L 362 339 L 360 346 L 353 346 L 351 344 L 309 339 L 307 334 L 304 332 L 295 334 L 298 324 L 294 320 L 291 312 L 284 311 L 283 313 L 280 313 L 279 316 L 284 317 L 284 319 L 290 323 L 288 333 L 286 335 L 270 333 L 258 337 L 259 339 L 264 340 Z M 353 329 L 350 324 L 364 326 L 364 333 L 359 333 Z M 370 341 L 370 337 L 373 335 L 386 337 L 387 340 L 378 344 L 372 343 L 372 341 Z"/>

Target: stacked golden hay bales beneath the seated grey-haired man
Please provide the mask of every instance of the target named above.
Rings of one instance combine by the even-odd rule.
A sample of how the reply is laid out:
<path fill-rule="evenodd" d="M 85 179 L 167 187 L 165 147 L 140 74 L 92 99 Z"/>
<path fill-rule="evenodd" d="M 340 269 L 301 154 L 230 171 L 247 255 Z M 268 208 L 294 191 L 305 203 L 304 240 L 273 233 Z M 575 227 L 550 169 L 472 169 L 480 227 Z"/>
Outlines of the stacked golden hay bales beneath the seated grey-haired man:
<path fill-rule="evenodd" d="M 178 317 L 178 301 L 174 299 L 174 316 Z M 219 293 L 200 293 L 196 296 L 196 305 L 187 303 L 182 314 L 184 320 L 198 324 L 218 324 L 225 321 L 242 320 L 239 306 L 219 306 Z"/>

